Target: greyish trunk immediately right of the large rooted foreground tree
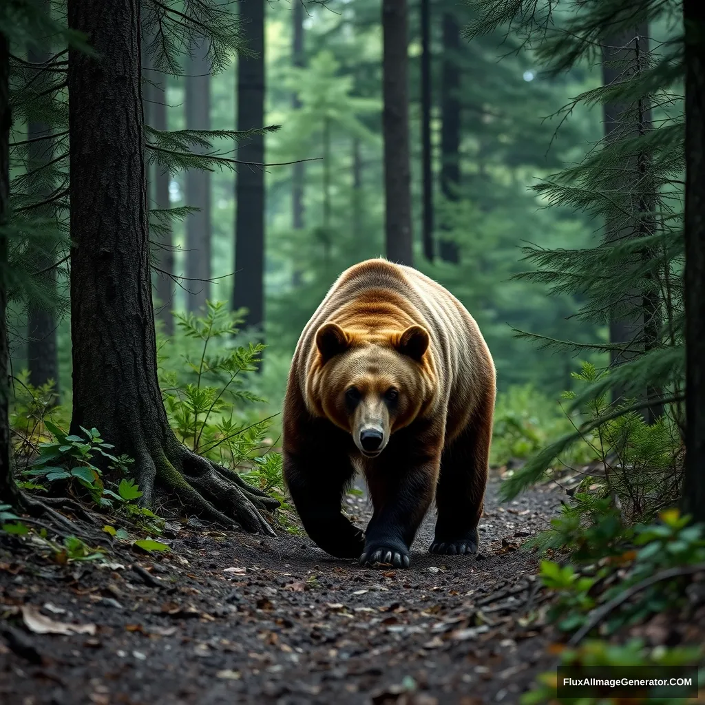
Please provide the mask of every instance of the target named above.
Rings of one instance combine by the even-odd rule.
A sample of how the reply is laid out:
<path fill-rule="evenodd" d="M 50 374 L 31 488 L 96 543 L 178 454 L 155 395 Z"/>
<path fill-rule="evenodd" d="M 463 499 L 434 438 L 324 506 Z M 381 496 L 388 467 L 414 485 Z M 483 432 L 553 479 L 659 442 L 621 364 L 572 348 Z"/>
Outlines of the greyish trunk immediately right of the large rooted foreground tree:
<path fill-rule="evenodd" d="M 146 79 L 142 82 L 145 92 L 145 123 L 155 130 L 165 132 L 168 129 L 166 116 L 166 74 L 152 68 L 146 56 L 142 57 L 142 66 L 149 68 Z M 169 198 L 169 174 L 159 164 L 152 165 L 149 179 L 149 207 L 166 211 L 171 207 Z M 174 252 L 171 223 L 166 219 L 160 221 L 159 233 L 149 233 L 150 248 L 153 252 L 154 294 L 156 299 L 155 314 L 161 321 L 162 330 L 167 336 L 174 332 L 174 319 L 171 314 L 174 300 Z"/>

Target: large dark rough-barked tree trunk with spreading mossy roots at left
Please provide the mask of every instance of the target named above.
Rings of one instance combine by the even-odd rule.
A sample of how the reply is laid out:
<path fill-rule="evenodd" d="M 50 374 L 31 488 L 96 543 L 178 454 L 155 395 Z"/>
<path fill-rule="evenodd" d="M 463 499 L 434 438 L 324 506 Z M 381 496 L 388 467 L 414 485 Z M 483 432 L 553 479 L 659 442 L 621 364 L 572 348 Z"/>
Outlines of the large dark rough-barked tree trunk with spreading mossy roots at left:
<path fill-rule="evenodd" d="M 94 59 L 68 54 L 71 140 L 71 431 L 99 429 L 150 503 L 155 483 L 188 508 L 271 533 L 257 508 L 274 502 L 195 455 L 168 424 L 157 381 L 149 272 L 139 0 L 68 1 L 69 26 Z"/>

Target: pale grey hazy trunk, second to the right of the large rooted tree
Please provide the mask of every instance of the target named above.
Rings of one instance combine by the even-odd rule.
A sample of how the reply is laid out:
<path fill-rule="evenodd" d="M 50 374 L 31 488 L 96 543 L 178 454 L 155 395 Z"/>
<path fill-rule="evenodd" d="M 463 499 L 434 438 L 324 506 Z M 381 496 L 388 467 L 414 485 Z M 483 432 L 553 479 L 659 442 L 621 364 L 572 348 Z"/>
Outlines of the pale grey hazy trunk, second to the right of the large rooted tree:
<path fill-rule="evenodd" d="M 186 61 L 186 129 L 211 128 L 211 67 L 208 42 L 193 47 Z M 211 278 L 211 173 L 200 169 L 186 172 L 186 204 L 198 208 L 186 221 L 186 307 L 196 313 L 204 311 L 210 298 Z"/>

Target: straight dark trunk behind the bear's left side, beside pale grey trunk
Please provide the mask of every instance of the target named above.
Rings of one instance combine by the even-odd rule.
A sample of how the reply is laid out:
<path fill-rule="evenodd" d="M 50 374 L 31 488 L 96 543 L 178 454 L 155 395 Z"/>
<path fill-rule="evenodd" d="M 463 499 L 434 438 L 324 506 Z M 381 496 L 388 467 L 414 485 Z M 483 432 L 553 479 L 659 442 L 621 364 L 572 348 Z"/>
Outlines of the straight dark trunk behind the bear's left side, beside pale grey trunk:
<path fill-rule="evenodd" d="M 264 1 L 241 0 L 243 32 L 256 56 L 238 57 L 238 130 L 264 125 Z M 264 164 L 264 135 L 240 145 L 238 159 Z M 264 168 L 240 165 L 235 192 L 233 308 L 245 307 L 246 326 L 264 324 Z M 261 369 L 261 367 L 260 367 Z"/>

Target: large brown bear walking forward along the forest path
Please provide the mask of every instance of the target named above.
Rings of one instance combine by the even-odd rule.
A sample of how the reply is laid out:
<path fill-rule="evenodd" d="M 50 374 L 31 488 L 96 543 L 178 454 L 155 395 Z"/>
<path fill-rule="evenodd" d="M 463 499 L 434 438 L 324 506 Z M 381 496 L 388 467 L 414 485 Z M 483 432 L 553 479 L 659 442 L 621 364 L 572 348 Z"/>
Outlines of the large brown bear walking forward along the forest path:
<path fill-rule="evenodd" d="M 477 553 L 495 400 L 489 348 L 448 290 L 384 258 L 344 271 L 301 333 L 283 403 L 283 476 L 309 538 L 408 568 L 435 500 L 429 551 Z M 341 509 L 357 471 L 364 533 Z"/>

